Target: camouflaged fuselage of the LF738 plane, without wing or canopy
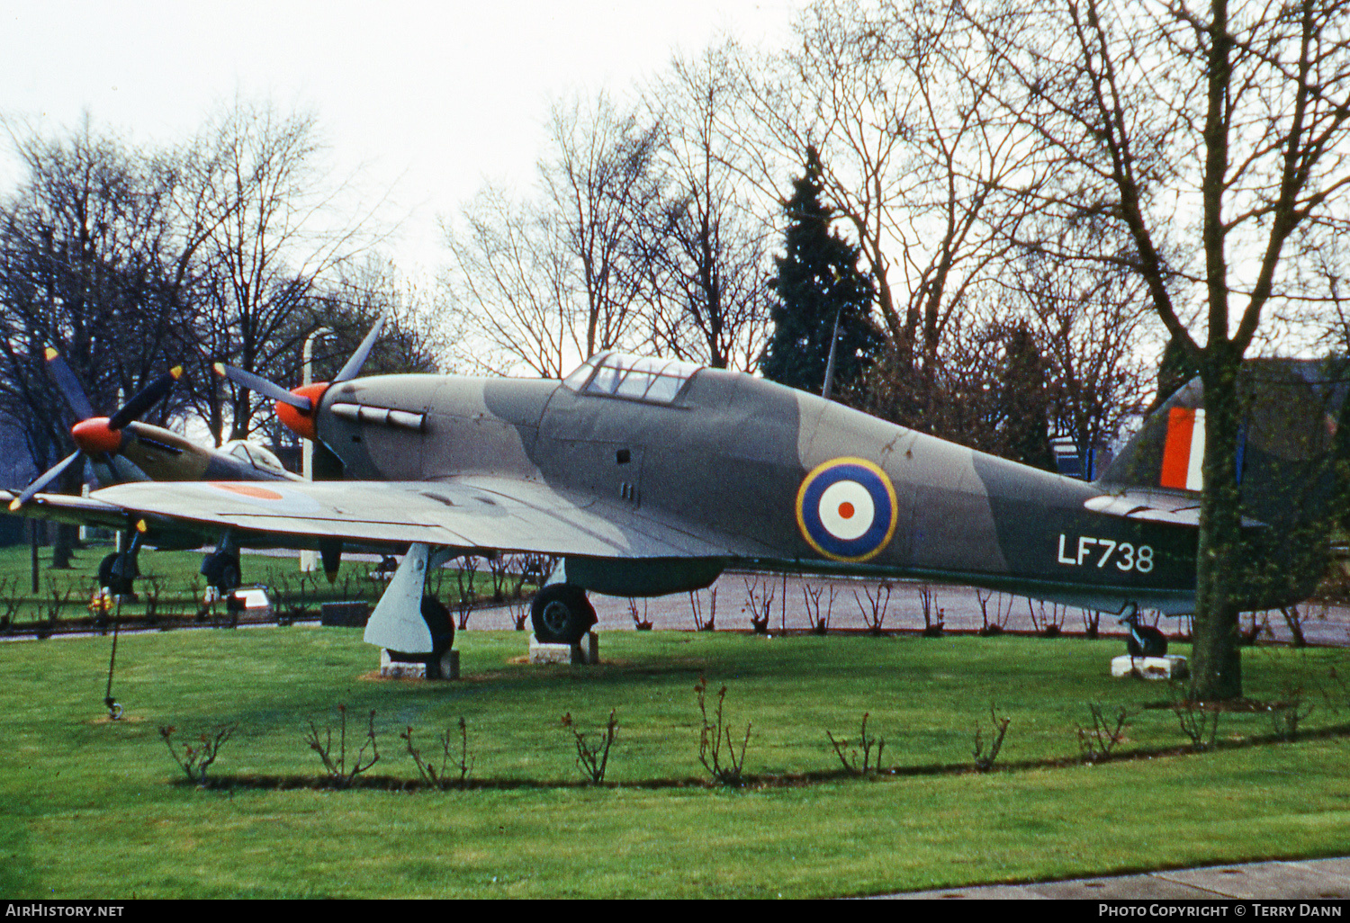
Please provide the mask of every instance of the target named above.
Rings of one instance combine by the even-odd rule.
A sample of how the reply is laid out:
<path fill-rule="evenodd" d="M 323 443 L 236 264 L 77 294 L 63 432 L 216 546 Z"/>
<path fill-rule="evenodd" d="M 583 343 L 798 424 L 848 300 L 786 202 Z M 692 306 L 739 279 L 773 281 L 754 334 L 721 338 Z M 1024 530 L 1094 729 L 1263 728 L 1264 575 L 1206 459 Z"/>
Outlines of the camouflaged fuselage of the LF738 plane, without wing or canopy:
<path fill-rule="evenodd" d="M 319 437 L 358 480 L 509 475 L 703 524 L 730 561 L 969 583 L 1118 611 L 1193 605 L 1196 530 L 1084 506 L 1104 491 L 751 375 L 652 403 L 556 381 L 343 382 Z"/>

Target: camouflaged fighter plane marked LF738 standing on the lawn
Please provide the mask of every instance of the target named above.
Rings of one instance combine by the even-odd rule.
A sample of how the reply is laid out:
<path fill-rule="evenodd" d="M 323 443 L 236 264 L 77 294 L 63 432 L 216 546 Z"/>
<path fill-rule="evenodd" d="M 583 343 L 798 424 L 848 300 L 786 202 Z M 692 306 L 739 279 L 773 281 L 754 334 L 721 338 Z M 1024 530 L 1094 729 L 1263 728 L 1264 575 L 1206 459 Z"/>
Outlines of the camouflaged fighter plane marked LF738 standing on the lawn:
<path fill-rule="evenodd" d="M 1304 598 L 1320 574 L 1324 536 L 1311 526 L 1350 429 L 1345 386 L 1324 370 L 1264 364 L 1250 378 L 1253 567 L 1238 580 L 1245 609 L 1268 609 Z M 437 653 L 423 584 L 460 555 L 558 556 L 532 623 L 560 642 L 594 623 L 587 591 L 690 591 L 733 565 L 960 583 L 1126 617 L 1195 606 L 1197 382 L 1092 483 L 752 375 L 613 352 L 563 381 L 247 383 L 340 460 L 342 480 L 127 483 L 38 494 L 22 511 L 136 528 L 150 545 L 186 532 L 224 549 L 317 547 L 329 571 L 344 542 L 406 549 L 364 636 L 406 653 Z M 1135 630 L 1137 645 L 1150 641 Z"/>

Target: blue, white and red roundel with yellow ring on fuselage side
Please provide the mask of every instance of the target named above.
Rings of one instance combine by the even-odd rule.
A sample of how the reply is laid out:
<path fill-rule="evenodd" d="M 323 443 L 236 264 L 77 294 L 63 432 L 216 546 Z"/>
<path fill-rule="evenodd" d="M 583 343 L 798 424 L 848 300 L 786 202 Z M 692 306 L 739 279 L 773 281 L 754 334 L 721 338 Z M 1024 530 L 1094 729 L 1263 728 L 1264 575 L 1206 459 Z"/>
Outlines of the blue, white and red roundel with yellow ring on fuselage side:
<path fill-rule="evenodd" d="M 865 459 L 817 466 L 796 491 L 796 525 L 811 548 L 836 561 L 875 557 L 895 534 L 895 487 Z"/>

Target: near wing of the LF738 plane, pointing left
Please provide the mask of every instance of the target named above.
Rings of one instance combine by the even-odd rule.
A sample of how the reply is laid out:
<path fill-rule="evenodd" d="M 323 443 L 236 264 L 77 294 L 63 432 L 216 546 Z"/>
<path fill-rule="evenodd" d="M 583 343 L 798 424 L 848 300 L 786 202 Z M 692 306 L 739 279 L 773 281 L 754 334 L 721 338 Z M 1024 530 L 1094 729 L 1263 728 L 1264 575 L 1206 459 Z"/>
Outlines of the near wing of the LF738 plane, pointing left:
<path fill-rule="evenodd" d="M 0 491 L 0 499 L 4 493 Z M 88 498 L 39 494 L 24 513 L 126 528 L 128 521 L 200 532 L 221 529 L 364 544 L 583 557 L 741 557 L 767 548 L 702 526 L 639 513 L 539 482 L 462 476 L 436 482 L 131 483 Z"/>

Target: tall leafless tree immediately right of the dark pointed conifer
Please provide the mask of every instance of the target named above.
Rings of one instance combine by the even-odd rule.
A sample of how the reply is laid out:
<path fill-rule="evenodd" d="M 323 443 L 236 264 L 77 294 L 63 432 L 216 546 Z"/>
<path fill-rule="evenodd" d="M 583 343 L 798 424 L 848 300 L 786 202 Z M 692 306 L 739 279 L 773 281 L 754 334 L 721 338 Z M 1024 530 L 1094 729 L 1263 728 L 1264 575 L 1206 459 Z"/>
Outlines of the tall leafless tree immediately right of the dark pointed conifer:
<path fill-rule="evenodd" d="M 954 9 L 818 0 L 798 23 L 796 50 L 741 70 L 744 100 L 778 150 L 744 159 L 764 175 L 819 150 L 826 194 L 876 285 L 891 341 L 884 372 L 911 379 L 891 382 L 903 401 L 887 416 L 919 428 L 945 337 L 1015 254 L 1011 235 L 1027 209 L 1007 186 L 1040 181 L 1019 144 L 1026 132 L 988 112 L 1006 76 Z"/>

